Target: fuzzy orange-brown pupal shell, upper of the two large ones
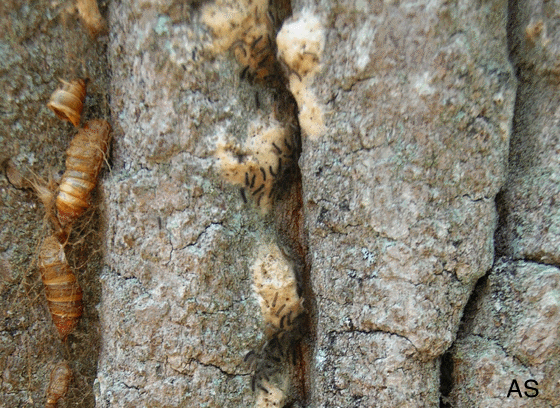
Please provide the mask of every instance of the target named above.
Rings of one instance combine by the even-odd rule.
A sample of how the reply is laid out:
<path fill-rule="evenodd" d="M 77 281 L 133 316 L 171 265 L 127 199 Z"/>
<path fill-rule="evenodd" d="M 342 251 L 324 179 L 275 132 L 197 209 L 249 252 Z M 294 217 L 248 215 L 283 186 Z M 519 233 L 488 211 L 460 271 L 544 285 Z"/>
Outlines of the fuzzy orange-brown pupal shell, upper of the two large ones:
<path fill-rule="evenodd" d="M 89 196 L 103 166 L 110 131 L 106 120 L 90 120 L 70 142 L 66 150 L 66 171 L 56 197 L 62 225 L 72 223 L 89 207 Z"/>

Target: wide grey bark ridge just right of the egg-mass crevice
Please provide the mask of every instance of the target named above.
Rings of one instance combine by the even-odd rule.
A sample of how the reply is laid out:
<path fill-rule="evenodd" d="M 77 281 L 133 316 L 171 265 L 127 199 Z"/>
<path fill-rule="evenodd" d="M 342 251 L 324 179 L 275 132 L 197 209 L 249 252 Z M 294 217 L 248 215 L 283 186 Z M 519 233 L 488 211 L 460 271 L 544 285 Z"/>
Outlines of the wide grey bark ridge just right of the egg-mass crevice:
<path fill-rule="evenodd" d="M 516 83 L 507 3 L 318 13 L 327 131 L 302 158 L 314 404 L 437 406 L 438 358 L 493 261 Z"/>

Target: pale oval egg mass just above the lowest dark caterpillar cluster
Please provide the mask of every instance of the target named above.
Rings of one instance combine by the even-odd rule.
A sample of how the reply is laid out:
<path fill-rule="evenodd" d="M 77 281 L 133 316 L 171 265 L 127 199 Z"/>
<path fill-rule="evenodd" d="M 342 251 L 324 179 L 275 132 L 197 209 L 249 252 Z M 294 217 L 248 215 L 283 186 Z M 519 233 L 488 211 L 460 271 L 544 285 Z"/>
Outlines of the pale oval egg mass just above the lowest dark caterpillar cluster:
<path fill-rule="evenodd" d="M 276 244 L 264 245 L 253 265 L 253 290 L 265 323 L 276 330 L 291 330 L 303 313 L 293 265 Z"/>

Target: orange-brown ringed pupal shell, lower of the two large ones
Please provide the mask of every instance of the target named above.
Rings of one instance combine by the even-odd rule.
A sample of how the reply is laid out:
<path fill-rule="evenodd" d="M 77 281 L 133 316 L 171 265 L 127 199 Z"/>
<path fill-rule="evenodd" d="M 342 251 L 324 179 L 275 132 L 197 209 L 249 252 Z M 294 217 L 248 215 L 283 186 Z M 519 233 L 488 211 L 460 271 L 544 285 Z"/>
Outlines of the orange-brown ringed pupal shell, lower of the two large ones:
<path fill-rule="evenodd" d="M 39 268 L 53 323 L 60 337 L 66 339 L 82 315 L 82 289 L 66 261 L 64 247 L 55 236 L 43 241 Z"/>

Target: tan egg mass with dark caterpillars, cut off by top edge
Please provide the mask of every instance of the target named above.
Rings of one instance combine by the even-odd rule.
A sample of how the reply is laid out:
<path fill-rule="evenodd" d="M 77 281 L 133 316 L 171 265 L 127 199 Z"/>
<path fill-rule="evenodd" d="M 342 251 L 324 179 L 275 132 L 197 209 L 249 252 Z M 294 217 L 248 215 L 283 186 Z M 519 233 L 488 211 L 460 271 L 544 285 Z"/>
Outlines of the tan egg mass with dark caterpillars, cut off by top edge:
<path fill-rule="evenodd" d="M 203 21 L 214 32 L 217 53 L 233 50 L 243 66 L 241 79 L 272 87 L 282 85 L 276 59 L 277 19 L 268 0 L 219 0 L 204 8 Z"/>

